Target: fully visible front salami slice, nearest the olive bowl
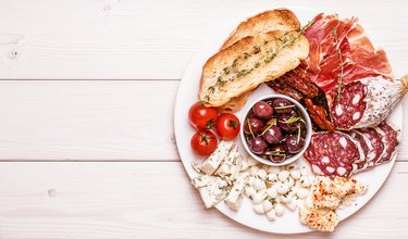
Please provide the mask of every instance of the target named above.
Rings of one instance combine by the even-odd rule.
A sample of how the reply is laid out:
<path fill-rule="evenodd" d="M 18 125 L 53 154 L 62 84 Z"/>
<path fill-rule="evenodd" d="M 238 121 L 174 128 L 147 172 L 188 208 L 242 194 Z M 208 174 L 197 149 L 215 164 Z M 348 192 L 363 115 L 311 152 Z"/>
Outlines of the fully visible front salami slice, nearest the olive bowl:
<path fill-rule="evenodd" d="M 317 175 L 348 177 L 364 153 L 347 134 L 322 131 L 313 134 L 304 156 Z"/>

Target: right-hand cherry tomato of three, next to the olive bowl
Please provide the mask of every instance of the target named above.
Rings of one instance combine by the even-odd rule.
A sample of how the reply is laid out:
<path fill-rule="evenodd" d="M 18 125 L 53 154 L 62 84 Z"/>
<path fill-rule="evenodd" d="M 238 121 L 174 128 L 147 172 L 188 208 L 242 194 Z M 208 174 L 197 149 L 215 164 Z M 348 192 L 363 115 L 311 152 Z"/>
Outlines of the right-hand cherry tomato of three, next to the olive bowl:
<path fill-rule="evenodd" d="M 217 134 L 224 140 L 235 138 L 239 133 L 239 120 L 230 113 L 221 114 L 215 125 Z"/>

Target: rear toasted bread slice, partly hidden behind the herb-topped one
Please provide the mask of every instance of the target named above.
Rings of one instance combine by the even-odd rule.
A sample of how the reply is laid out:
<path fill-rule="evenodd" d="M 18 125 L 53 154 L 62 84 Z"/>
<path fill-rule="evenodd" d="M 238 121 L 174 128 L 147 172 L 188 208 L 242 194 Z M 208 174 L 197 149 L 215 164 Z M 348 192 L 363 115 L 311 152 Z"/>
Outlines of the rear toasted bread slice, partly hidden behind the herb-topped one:
<path fill-rule="evenodd" d="M 230 47 L 244 37 L 256 36 L 271 30 L 287 33 L 290 30 L 298 30 L 299 28 L 299 20 L 292 11 L 287 9 L 265 11 L 242 22 L 225 40 L 221 50 Z"/>

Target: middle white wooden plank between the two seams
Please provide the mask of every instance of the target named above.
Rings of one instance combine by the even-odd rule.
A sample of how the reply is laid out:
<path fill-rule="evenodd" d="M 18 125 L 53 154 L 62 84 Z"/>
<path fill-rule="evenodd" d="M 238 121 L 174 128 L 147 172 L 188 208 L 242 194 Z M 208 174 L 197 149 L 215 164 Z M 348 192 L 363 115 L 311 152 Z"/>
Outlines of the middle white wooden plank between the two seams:
<path fill-rule="evenodd" d="M 177 86 L 177 80 L 0 80 L 0 161 L 178 161 Z M 407 109 L 407 99 L 403 105 Z M 404 115 L 408 118 L 408 111 Z M 408 127 L 403 135 L 408 138 Z M 398 161 L 408 161 L 405 140 Z"/>

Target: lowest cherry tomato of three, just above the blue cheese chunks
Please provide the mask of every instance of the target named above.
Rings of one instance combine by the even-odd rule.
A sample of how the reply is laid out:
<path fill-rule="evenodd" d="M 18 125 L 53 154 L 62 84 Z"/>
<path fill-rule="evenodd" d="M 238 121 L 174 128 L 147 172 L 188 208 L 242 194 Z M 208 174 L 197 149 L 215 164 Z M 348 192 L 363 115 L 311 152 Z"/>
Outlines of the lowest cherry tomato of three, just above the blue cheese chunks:
<path fill-rule="evenodd" d="M 212 131 L 197 131 L 190 141 L 193 151 L 201 156 L 208 156 L 215 151 L 218 139 Z"/>

